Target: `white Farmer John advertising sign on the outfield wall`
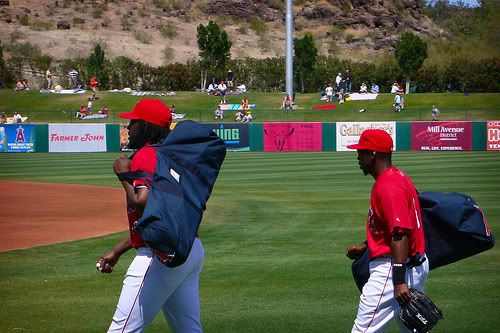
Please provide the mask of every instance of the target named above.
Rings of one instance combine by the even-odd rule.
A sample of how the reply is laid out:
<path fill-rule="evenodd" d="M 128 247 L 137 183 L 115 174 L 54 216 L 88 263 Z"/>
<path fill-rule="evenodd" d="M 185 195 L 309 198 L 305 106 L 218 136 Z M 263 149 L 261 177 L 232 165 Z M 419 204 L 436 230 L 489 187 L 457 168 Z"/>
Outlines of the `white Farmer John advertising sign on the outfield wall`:
<path fill-rule="evenodd" d="M 106 124 L 49 124 L 49 152 L 106 151 Z"/>

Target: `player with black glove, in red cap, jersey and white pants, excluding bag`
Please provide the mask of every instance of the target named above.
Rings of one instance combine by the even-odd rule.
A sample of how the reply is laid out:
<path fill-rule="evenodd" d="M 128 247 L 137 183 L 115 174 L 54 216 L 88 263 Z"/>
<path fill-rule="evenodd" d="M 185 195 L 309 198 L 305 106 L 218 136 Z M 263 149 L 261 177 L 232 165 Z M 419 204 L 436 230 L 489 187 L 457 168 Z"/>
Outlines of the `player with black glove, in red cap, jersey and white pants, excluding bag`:
<path fill-rule="evenodd" d="M 399 320 L 400 304 L 411 299 L 409 288 L 421 292 L 429 272 L 417 191 L 410 177 L 392 165 L 392 138 L 384 130 L 365 130 L 358 144 L 358 161 L 365 175 L 372 175 L 367 241 L 347 248 L 351 259 L 366 249 L 370 278 L 360 296 L 352 332 L 384 332 L 396 319 L 401 332 L 409 332 Z"/>

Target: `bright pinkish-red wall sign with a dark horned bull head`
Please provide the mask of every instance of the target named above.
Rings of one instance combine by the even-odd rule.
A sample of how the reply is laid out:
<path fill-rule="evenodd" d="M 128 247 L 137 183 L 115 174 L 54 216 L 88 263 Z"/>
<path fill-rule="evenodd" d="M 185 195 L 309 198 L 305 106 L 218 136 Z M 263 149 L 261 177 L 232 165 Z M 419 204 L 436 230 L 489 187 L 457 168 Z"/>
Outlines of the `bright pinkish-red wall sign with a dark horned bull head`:
<path fill-rule="evenodd" d="M 321 123 L 264 123 L 264 151 L 321 149 Z"/>

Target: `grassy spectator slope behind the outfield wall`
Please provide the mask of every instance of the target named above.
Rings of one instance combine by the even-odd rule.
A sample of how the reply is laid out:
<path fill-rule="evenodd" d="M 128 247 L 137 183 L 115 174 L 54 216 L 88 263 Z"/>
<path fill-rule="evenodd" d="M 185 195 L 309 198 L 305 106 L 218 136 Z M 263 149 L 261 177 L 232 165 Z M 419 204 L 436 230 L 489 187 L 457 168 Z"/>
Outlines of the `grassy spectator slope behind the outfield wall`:
<path fill-rule="evenodd" d="M 130 111 L 143 97 L 125 93 L 99 92 L 100 98 L 94 103 L 94 112 L 105 105 L 110 117 L 101 120 L 76 120 L 75 112 L 81 104 L 86 105 L 90 94 L 56 95 L 41 94 L 37 91 L 13 92 L 0 90 L 0 112 L 12 116 L 14 112 L 28 117 L 30 123 L 48 122 L 124 122 L 119 112 Z M 441 120 L 488 120 L 500 119 L 500 94 L 409 94 L 405 95 L 406 109 L 395 114 L 392 111 L 394 95 L 380 94 L 373 101 L 352 101 L 338 105 L 333 111 L 313 111 L 320 101 L 319 94 L 297 94 L 297 110 L 285 112 L 280 109 L 281 93 L 246 94 L 250 103 L 257 104 L 253 111 L 254 120 L 263 121 L 373 121 L 373 120 L 430 120 L 432 105 L 441 110 Z M 173 97 L 159 98 L 168 105 L 175 104 L 177 113 L 186 114 L 187 119 L 213 121 L 214 110 L 220 98 L 204 93 L 177 92 Z M 242 95 L 228 95 L 228 103 L 240 103 Z M 365 109 L 365 112 L 358 112 Z M 226 121 L 234 120 L 234 111 L 225 112 Z"/>

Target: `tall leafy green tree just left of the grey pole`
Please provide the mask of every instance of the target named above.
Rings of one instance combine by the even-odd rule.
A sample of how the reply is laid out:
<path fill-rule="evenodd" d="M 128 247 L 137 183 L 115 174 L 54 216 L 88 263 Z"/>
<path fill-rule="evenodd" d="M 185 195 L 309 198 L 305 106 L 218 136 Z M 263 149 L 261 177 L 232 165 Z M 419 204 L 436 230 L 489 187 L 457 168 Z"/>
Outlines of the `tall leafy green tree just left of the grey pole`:
<path fill-rule="evenodd" d="M 224 68 L 231 57 L 231 41 L 217 23 L 209 21 L 207 26 L 197 28 L 197 42 L 202 63 L 201 88 L 205 89 L 208 71 L 212 68 Z"/>

